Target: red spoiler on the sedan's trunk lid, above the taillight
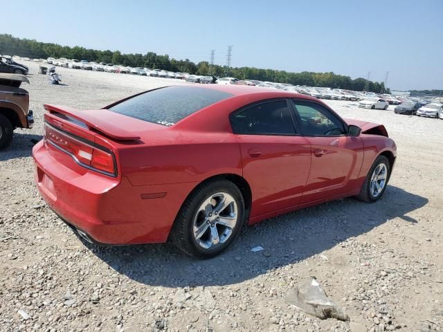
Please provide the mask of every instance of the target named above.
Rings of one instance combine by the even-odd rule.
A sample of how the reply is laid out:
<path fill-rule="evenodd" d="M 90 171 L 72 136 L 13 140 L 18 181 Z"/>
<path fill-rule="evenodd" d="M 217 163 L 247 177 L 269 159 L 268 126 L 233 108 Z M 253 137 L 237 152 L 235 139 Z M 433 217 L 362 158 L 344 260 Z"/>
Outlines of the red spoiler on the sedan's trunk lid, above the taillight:
<path fill-rule="evenodd" d="M 133 133 L 129 133 L 125 129 L 116 126 L 115 124 L 108 122 L 106 120 L 107 110 L 100 109 L 96 111 L 80 111 L 78 109 L 73 109 L 71 107 L 64 107 L 58 105 L 48 105 L 44 104 L 44 109 L 49 113 L 61 113 L 69 118 L 73 118 L 89 127 L 89 129 L 93 129 L 100 133 L 104 133 L 106 136 L 110 138 L 114 138 L 116 140 L 139 140 L 140 136 L 134 136 Z"/>

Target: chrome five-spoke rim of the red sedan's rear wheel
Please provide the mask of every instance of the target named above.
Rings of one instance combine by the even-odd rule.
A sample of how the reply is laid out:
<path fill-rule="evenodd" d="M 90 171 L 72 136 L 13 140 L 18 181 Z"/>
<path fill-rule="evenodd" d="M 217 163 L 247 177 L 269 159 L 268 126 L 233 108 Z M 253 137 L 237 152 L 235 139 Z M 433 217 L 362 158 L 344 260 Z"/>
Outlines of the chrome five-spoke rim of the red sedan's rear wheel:
<path fill-rule="evenodd" d="M 227 192 L 217 192 L 201 203 L 194 216 L 192 235 L 204 249 L 214 249 L 233 234 L 238 221 L 237 203 Z"/>

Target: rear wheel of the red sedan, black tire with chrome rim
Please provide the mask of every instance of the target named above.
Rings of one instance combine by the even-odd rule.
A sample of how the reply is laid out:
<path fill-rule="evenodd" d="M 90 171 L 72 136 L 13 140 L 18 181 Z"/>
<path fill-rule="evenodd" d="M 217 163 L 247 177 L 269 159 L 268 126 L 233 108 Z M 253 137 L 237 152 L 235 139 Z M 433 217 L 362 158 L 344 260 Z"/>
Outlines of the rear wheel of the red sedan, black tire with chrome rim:
<path fill-rule="evenodd" d="M 217 196 L 220 194 L 224 194 L 224 196 Z M 212 197 L 215 197 L 215 199 L 211 199 Z M 227 208 L 219 210 L 220 213 L 217 216 L 217 209 L 213 210 L 213 203 L 217 207 L 222 199 L 221 197 L 229 201 L 233 199 L 233 201 L 227 205 Z M 206 204 L 207 202 L 211 202 L 210 205 Z M 202 210 L 203 206 L 208 208 Z M 234 207 L 236 207 L 235 210 Z M 227 210 L 230 211 L 229 218 L 235 215 L 233 211 L 237 211 L 237 219 L 233 228 L 218 223 L 218 220 L 223 218 L 222 213 L 226 213 Z M 244 223 L 244 211 L 242 192 L 234 183 L 223 179 L 214 179 L 203 183 L 183 203 L 172 226 L 170 242 L 192 257 L 201 259 L 215 257 L 228 248 L 237 238 Z M 209 221 L 208 218 L 215 219 Z M 200 237 L 196 234 L 197 229 L 201 230 Z M 213 230 L 217 232 L 216 239 L 219 239 L 216 244 L 212 239 Z M 208 246 L 208 248 L 204 248 L 204 246 Z"/>

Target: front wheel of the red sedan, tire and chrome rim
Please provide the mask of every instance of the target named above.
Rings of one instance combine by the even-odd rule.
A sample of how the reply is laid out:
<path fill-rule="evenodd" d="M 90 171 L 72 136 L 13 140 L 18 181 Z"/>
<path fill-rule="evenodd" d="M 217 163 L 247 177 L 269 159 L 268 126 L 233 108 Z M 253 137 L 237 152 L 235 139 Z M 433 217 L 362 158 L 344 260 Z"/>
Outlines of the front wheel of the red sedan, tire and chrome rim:
<path fill-rule="evenodd" d="M 388 158 L 378 156 L 372 164 L 356 198 L 367 203 L 378 201 L 386 190 L 389 175 L 390 165 Z"/>

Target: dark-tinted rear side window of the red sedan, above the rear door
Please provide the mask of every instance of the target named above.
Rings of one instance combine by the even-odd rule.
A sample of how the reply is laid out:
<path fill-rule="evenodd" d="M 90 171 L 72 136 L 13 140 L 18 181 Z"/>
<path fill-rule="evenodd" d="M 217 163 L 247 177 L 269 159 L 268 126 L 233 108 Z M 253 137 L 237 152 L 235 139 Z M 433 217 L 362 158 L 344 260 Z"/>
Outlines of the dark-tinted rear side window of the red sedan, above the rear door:
<path fill-rule="evenodd" d="M 255 104 L 230 118 L 233 132 L 250 135 L 293 135 L 291 111 L 286 100 Z"/>

